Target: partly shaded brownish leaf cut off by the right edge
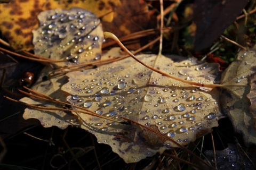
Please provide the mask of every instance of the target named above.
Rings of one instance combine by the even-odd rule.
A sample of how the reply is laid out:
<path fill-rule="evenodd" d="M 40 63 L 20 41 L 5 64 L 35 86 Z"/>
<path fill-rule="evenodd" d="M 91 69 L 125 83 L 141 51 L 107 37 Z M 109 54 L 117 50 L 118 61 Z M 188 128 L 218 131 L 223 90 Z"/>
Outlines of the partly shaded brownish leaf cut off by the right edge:
<path fill-rule="evenodd" d="M 222 90 L 221 107 L 223 113 L 226 113 L 233 123 L 234 129 L 243 134 L 244 141 L 256 143 L 256 129 L 254 126 L 255 114 L 251 114 L 249 107 L 254 107 L 247 95 L 250 92 L 250 82 L 248 76 L 255 72 L 255 52 L 242 51 L 238 54 L 236 61 L 223 72 L 221 84 L 234 84 L 227 87 L 228 90 Z M 238 86 L 236 86 L 238 85 Z M 254 88 L 252 86 L 252 88 Z M 251 93 L 253 95 L 253 91 Z M 250 97 L 250 95 L 249 95 Z M 253 98 L 252 96 L 250 97 Z M 253 100 L 251 100 L 253 102 Z"/>

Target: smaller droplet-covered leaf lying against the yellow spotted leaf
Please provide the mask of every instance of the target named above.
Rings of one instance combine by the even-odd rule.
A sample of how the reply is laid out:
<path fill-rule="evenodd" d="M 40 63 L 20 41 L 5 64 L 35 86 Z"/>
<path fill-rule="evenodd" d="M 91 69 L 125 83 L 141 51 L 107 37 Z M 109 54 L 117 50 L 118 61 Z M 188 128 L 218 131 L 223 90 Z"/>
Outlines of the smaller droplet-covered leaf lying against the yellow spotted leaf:
<path fill-rule="evenodd" d="M 82 8 L 49 10 L 38 15 L 40 26 L 33 31 L 35 54 L 54 60 L 58 66 L 99 60 L 103 31 L 98 19 Z"/>

